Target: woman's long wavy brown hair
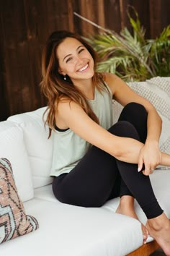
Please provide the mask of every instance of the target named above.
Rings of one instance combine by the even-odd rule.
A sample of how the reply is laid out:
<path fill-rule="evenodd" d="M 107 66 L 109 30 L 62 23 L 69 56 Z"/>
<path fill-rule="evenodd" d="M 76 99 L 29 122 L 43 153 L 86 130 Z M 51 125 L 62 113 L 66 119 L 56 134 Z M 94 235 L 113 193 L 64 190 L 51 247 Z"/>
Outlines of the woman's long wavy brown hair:
<path fill-rule="evenodd" d="M 45 124 L 48 123 L 50 128 L 49 137 L 51 135 L 51 130 L 55 129 L 55 112 L 57 110 L 58 102 L 63 98 L 68 98 L 70 101 L 78 103 L 91 119 L 99 123 L 97 116 L 91 110 L 84 94 L 73 85 L 73 82 L 71 82 L 71 79 L 68 76 L 66 76 L 66 80 L 63 80 L 63 75 L 58 72 L 59 64 L 56 50 L 66 38 L 75 38 L 76 40 L 79 40 L 79 42 L 81 42 L 89 51 L 94 59 L 93 84 L 99 91 L 104 89 L 102 74 L 95 72 L 97 54 L 94 49 L 89 46 L 86 40 L 81 38 L 80 35 L 65 30 L 53 32 L 48 38 L 42 51 L 42 82 L 40 83 L 42 93 L 48 98 L 48 108 L 45 111 L 45 113 L 47 112 Z"/>

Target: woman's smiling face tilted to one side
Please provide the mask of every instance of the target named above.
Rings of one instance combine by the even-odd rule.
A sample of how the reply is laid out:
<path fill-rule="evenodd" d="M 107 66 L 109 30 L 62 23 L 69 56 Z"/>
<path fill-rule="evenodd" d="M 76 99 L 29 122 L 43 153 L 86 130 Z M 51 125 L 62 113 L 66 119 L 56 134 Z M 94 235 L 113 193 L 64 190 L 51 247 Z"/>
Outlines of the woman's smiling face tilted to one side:
<path fill-rule="evenodd" d="M 66 38 L 58 46 L 56 55 L 60 74 L 68 75 L 72 82 L 91 79 L 94 60 L 85 46 L 75 38 Z"/>

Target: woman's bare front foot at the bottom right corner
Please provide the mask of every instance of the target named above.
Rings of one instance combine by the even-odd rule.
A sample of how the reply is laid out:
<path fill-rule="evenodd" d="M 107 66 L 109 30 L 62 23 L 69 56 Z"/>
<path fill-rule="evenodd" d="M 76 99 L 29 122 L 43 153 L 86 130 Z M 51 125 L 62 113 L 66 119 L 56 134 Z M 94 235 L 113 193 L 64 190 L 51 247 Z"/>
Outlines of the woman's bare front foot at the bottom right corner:
<path fill-rule="evenodd" d="M 156 240 L 167 256 L 170 256 L 170 222 L 164 213 L 147 221 L 149 234 Z"/>

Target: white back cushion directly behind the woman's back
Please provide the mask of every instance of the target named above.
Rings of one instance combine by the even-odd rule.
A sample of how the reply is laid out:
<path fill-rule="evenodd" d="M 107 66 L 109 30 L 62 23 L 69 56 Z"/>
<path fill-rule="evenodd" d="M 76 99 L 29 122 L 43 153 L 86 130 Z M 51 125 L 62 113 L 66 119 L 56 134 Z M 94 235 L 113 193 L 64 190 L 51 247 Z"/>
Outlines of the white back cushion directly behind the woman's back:
<path fill-rule="evenodd" d="M 32 171 L 33 187 L 42 187 L 52 182 L 50 167 L 52 163 L 53 143 L 52 137 L 48 139 L 48 127 L 44 127 L 42 115 L 44 108 L 10 116 L 22 128 L 27 154 Z"/>

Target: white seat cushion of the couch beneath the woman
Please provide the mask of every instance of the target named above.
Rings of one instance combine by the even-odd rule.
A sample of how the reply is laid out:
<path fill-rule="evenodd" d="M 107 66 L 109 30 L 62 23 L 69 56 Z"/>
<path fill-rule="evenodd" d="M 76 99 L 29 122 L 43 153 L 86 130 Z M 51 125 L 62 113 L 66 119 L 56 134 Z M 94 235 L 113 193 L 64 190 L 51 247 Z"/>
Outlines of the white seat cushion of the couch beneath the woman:
<path fill-rule="evenodd" d="M 40 229 L 1 244 L 1 255 L 125 256 L 143 242 L 138 221 L 102 208 L 39 199 L 24 207 L 38 219 Z"/>

